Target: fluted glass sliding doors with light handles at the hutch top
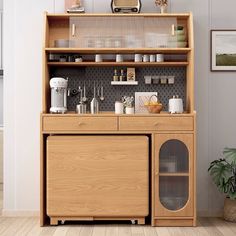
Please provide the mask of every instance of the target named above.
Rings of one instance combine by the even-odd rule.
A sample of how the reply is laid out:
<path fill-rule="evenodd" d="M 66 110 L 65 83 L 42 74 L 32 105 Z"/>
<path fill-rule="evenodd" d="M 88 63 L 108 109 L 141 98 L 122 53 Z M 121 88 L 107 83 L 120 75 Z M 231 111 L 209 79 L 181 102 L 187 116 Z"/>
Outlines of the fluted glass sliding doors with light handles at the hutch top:
<path fill-rule="evenodd" d="M 70 47 L 175 47 L 176 17 L 70 17 Z"/>

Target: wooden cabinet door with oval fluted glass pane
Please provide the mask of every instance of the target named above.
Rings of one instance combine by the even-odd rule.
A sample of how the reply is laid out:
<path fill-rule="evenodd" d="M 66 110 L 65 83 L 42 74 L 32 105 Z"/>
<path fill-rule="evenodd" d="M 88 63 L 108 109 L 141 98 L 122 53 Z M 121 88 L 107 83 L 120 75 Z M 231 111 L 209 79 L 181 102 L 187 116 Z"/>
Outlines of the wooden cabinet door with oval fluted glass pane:
<path fill-rule="evenodd" d="M 156 216 L 192 216 L 192 147 L 192 134 L 156 135 Z"/>

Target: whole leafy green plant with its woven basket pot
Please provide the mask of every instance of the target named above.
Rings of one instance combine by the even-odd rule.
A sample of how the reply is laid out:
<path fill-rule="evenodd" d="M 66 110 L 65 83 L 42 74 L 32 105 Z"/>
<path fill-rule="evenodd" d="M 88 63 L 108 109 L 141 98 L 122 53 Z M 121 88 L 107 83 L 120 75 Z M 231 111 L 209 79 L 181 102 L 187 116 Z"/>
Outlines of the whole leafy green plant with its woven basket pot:
<path fill-rule="evenodd" d="M 211 162 L 208 169 L 218 190 L 226 195 L 224 219 L 236 222 L 236 149 L 225 148 L 224 158 Z"/>

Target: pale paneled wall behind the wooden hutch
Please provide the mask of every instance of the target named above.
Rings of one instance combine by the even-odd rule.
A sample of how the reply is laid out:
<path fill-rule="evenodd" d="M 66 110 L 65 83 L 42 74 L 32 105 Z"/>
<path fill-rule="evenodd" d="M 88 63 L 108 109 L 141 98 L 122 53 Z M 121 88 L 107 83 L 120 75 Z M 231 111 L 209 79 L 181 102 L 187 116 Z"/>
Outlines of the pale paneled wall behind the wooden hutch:
<path fill-rule="evenodd" d="M 110 0 L 86 0 L 85 3 L 87 12 L 110 12 Z M 4 0 L 5 211 L 39 209 L 42 13 L 44 10 L 63 12 L 63 6 L 63 0 Z M 170 6 L 172 12 L 192 11 L 194 14 L 197 198 L 198 211 L 204 214 L 217 213 L 223 203 L 208 177 L 209 162 L 218 158 L 225 146 L 236 146 L 235 73 L 209 70 L 210 28 L 235 26 L 236 3 L 228 0 L 227 6 L 213 0 L 172 0 Z M 22 14 L 25 9 L 31 10 Z M 143 1 L 143 11 L 155 10 L 154 0 Z"/>

